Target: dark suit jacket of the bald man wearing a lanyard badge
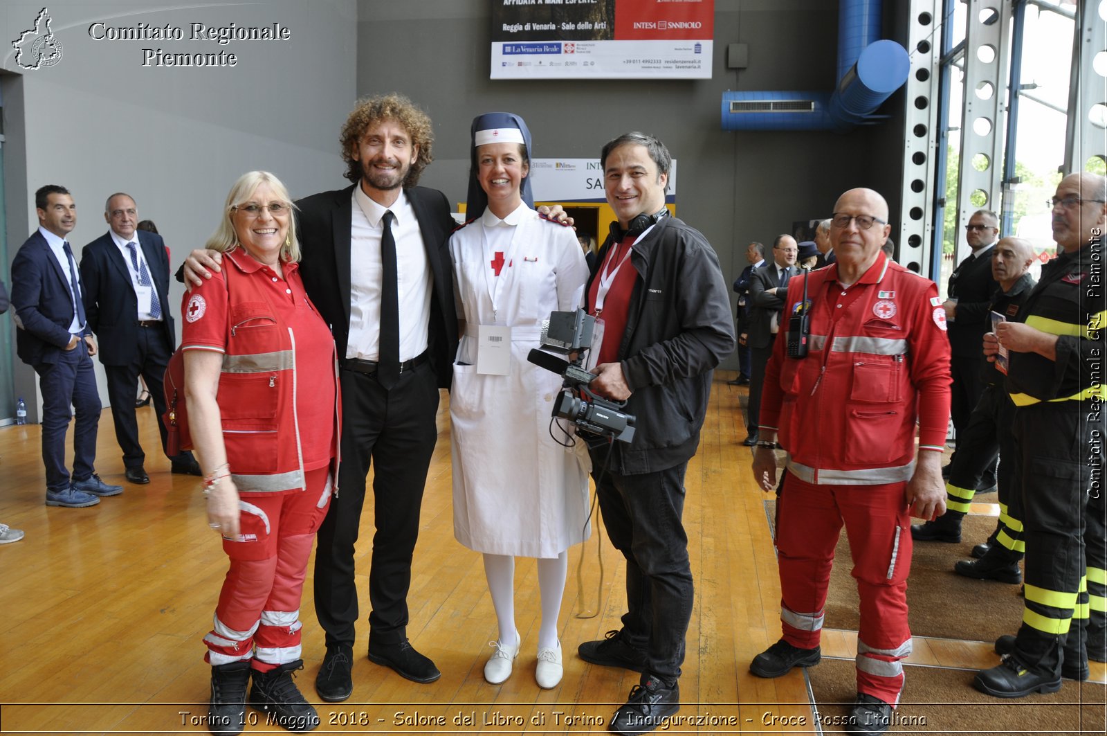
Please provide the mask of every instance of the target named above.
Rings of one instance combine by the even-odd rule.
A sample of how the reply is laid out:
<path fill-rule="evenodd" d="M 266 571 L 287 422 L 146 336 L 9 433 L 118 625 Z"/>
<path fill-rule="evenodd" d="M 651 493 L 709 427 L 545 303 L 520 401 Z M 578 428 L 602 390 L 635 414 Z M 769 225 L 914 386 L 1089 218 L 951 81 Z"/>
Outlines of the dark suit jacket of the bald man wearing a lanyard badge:
<path fill-rule="evenodd" d="M 135 231 L 146 257 L 149 278 L 162 306 L 162 337 L 173 352 L 177 337 L 169 314 L 169 256 L 161 235 Z M 81 254 L 81 283 L 84 285 L 84 310 L 89 327 L 100 343 L 100 361 L 105 366 L 125 366 L 139 356 L 138 297 L 131 280 L 131 269 L 111 232 L 84 246 Z"/>

